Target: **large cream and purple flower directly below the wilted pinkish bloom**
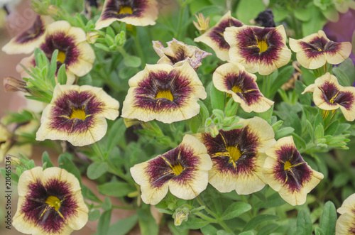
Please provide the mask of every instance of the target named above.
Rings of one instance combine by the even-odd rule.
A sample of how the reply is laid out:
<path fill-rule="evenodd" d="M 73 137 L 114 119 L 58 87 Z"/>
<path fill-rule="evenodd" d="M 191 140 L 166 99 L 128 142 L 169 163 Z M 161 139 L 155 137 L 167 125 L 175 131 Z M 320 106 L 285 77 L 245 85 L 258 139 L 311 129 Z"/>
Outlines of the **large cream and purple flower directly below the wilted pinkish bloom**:
<path fill-rule="evenodd" d="M 195 70 L 185 62 L 180 67 L 146 65 L 129 80 L 129 92 L 122 107 L 122 117 L 167 124 L 196 116 L 199 99 L 205 99 L 202 82 Z"/>

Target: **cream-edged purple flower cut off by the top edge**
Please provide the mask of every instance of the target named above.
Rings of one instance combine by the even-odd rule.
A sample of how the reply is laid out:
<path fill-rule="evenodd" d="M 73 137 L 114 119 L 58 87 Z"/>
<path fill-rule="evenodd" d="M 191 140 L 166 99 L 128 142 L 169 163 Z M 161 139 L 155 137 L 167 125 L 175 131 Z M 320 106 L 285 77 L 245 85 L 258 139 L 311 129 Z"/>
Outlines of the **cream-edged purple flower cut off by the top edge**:
<path fill-rule="evenodd" d="M 105 0 L 101 16 L 95 29 L 109 26 L 114 21 L 121 21 L 133 26 L 155 25 L 158 18 L 155 0 Z"/>

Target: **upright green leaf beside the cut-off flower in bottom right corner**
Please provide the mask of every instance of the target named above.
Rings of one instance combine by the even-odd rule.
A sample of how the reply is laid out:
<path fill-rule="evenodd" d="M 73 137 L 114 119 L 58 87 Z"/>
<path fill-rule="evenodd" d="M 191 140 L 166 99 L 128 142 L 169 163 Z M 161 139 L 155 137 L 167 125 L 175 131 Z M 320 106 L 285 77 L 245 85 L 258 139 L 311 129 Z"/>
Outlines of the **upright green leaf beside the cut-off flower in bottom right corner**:
<path fill-rule="evenodd" d="M 337 209 L 333 202 L 326 202 L 323 207 L 322 217 L 320 217 L 320 228 L 324 235 L 333 235 L 335 233 L 335 223 L 337 222 Z"/>

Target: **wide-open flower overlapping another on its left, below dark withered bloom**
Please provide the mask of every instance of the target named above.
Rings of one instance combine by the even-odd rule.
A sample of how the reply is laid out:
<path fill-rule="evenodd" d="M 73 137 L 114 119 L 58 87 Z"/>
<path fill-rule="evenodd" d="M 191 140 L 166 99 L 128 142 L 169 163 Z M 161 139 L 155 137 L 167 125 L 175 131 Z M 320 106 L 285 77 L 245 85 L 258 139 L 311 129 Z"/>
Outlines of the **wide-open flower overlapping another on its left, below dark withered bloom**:
<path fill-rule="evenodd" d="M 269 75 L 286 65 L 291 50 L 286 46 L 286 32 L 283 26 L 262 28 L 242 26 L 226 28 L 224 39 L 231 49 L 230 60 L 241 63 L 251 73 Z"/>

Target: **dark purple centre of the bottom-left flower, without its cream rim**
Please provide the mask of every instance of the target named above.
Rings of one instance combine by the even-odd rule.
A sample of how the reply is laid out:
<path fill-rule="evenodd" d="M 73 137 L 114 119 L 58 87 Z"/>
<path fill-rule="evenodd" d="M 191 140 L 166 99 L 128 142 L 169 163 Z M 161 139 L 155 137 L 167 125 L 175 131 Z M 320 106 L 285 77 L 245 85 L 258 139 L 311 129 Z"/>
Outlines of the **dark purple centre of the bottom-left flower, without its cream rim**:
<path fill-rule="evenodd" d="M 28 185 L 21 212 L 25 214 L 24 219 L 42 227 L 48 234 L 56 234 L 77 214 L 77 207 L 68 182 L 52 179 L 43 185 L 37 180 Z"/>

